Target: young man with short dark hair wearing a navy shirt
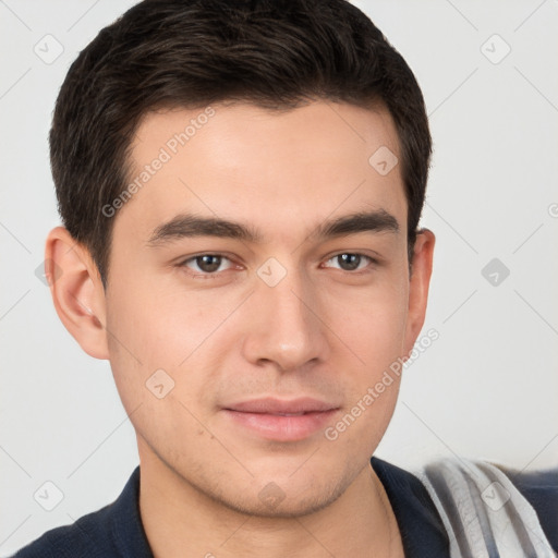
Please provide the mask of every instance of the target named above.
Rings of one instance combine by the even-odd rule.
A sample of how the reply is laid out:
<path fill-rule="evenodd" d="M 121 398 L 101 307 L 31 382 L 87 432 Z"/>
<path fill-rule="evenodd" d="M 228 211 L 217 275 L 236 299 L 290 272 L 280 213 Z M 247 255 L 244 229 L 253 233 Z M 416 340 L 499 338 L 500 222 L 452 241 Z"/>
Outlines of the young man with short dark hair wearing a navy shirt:
<path fill-rule="evenodd" d="M 141 462 L 16 556 L 553 556 L 539 478 L 373 457 L 435 238 L 421 90 L 357 9 L 144 1 L 74 62 L 50 141 L 52 299 Z"/>

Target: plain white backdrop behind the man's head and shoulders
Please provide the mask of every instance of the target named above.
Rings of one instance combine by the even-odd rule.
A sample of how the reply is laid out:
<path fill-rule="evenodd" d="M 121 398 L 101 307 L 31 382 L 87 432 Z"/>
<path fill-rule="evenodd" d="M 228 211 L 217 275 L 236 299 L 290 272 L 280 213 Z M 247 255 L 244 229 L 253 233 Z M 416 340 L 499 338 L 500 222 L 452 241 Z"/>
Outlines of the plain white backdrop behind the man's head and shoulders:
<path fill-rule="evenodd" d="M 3 556 L 112 501 L 137 464 L 108 363 L 81 351 L 36 276 L 59 223 L 47 145 L 58 89 L 76 53 L 133 3 L 0 1 Z M 354 3 L 415 72 L 435 142 L 424 331 L 439 339 L 405 371 L 376 456 L 411 469 L 452 453 L 556 466 L 558 2 Z M 495 269 L 482 272 L 493 258 L 498 284 Z M 34 499 L 47 481 L 63 494 L 52 511 Z"/>

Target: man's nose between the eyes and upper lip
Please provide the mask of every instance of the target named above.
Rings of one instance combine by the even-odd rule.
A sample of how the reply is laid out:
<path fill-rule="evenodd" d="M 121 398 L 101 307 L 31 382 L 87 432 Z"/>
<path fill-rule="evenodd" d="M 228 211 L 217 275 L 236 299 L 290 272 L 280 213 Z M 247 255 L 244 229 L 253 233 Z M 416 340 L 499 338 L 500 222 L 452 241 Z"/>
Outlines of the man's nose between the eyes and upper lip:
<path fill-rule="evenodd" d="M 329 345 L 319 306 L 319 296 L 300 274 L 289 271 L 274 287 L 258 280 L 244 357 L 259 366 L 272 363 L 281 372 L 325 361 Z"/>

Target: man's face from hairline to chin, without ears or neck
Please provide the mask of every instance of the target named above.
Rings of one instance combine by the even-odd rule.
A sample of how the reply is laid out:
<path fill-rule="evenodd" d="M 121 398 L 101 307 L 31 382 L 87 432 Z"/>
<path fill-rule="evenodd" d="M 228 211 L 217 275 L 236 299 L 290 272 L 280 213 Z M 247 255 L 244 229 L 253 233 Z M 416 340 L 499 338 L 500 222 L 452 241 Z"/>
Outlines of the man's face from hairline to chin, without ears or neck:
<path fill-rule="evenodd" d="M 110 363 L 142 465 L 236 510 L 305 513 L 368 465 L 399 377 L 365 396 L 424 316 L 400 166 L 368 161 L 400 158 L 397 133 L 343 104 L 211 109 L 137 130 L 142 185 L 112 217 Z"/>

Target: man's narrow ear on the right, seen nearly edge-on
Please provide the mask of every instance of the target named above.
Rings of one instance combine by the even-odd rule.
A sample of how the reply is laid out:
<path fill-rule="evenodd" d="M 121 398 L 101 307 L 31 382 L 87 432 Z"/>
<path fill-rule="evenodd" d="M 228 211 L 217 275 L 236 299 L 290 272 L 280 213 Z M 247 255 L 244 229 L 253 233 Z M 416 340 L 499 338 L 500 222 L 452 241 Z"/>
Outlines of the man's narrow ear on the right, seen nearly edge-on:
<path fill-rule="evenodd" d="M 428 302 L 434 244 L 436 236 L 428 229 L 416 235 L 409 286 L 409 313 L 405 326 L 404 354 L 409 354 L 421 332 Z"/>

